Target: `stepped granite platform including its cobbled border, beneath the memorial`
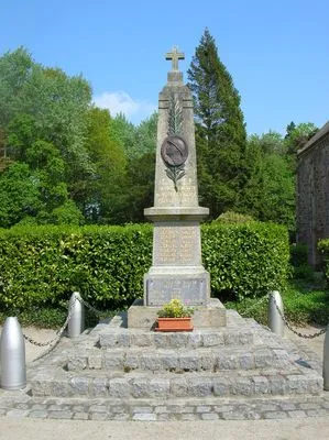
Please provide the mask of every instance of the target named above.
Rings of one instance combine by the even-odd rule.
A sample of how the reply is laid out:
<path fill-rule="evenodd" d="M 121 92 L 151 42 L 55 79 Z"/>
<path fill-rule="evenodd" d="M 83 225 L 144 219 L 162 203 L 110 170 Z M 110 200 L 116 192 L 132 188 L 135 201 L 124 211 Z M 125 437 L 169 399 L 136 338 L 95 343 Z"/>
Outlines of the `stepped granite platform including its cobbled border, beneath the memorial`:
<path fill-rule="evenodd" d="M 226 327 L 178 333 L 129 329 L 125 318 L 63 338 L 29 365 L 25 391 L 0 392 L 0 414 L 113 420 L 329 414 L 316 356 L 233 310 Z"/>

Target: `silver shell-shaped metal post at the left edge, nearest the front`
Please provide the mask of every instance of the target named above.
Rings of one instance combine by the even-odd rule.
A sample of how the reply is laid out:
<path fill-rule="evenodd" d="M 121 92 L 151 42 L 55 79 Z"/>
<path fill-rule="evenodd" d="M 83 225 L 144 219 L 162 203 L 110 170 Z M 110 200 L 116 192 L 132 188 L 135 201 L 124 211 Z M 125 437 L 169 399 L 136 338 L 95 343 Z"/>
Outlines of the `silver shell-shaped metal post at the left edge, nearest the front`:
<path fill-rule="evenodd" d="M 17 317 L 7 318 L 0 338 L 1 388 L 26 386 L 25 341 Z"/>

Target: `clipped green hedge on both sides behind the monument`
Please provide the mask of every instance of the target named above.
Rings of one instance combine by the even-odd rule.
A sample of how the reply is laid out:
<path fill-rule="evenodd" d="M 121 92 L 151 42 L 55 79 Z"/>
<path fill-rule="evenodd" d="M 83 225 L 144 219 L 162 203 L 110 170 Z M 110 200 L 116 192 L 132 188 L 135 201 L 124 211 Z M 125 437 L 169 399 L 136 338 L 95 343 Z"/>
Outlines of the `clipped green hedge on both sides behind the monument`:
<path fill-rule="evenodd" d="M 287 231 L 250 223 L 202 226 L 211 294 L 222 300 L 282 288 Z M 129 306 L 143 295 L 152 264 L 152 227 L 17 227 L 0 230 L 0 308 L 58 307 L 77 289 L 97 308 Z"/>

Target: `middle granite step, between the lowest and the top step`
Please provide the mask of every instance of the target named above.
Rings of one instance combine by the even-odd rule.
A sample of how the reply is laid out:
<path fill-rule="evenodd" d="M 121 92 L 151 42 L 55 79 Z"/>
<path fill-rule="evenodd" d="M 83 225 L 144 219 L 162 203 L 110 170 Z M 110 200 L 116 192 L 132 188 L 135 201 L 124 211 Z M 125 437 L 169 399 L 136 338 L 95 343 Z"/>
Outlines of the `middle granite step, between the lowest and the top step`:
<path fill-rule="evenodd" d="M 276 367 L 288 371 L 292 361 L 285 350 L 270 348 L 199 348 L 199 349 L 111 349 L 86 350 L 72 354 L 63 367 L 67 371 L 106 370 L 130 372 L 220 372 Z"/>

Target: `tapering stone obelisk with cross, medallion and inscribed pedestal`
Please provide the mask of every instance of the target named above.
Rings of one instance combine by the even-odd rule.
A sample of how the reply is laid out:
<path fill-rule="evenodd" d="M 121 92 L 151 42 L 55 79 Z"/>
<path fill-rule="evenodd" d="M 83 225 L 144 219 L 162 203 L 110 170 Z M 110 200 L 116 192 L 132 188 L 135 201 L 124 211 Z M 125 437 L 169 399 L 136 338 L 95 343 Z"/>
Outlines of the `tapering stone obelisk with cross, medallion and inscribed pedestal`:
<path fill-rule="evenodd" d="M 199 222 L 208 208 L 198 204 L 193 96 L 183 82 L 177 47 L 167 84 L 160 92 L 154 207 L 144 210 L 154 223 L 153 262 L 144 276 L 144 306 L 179 298 L 208 306 L 210 276 L 201 263 Z"/>

